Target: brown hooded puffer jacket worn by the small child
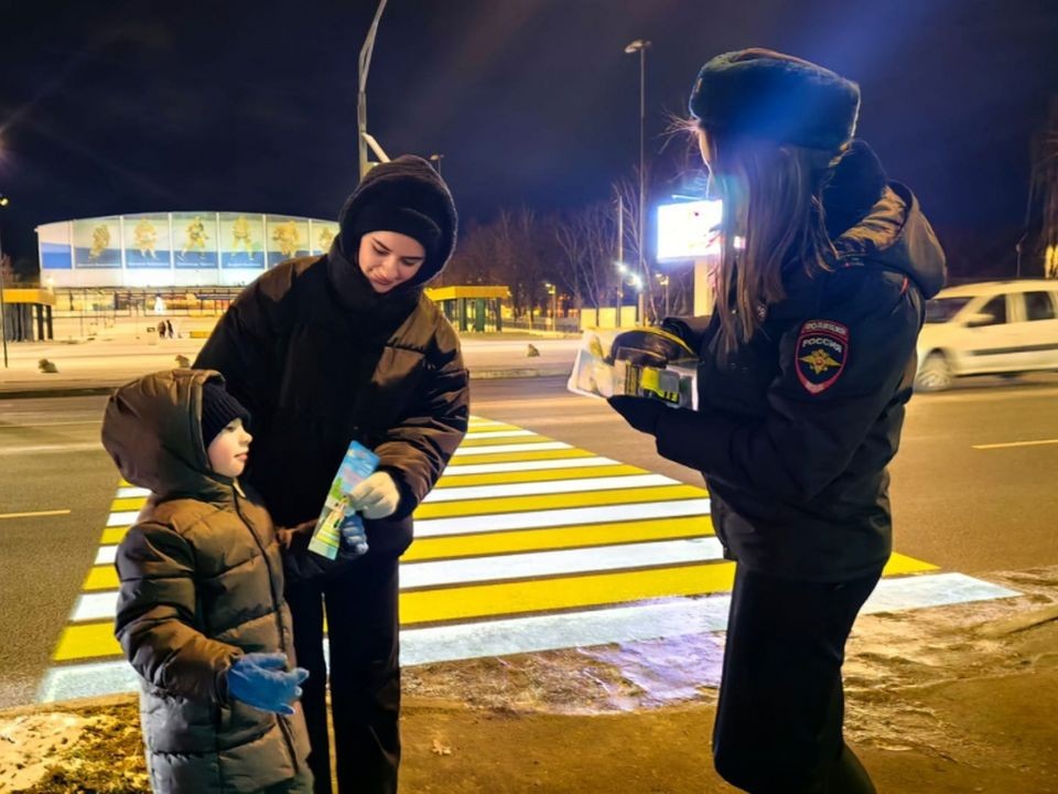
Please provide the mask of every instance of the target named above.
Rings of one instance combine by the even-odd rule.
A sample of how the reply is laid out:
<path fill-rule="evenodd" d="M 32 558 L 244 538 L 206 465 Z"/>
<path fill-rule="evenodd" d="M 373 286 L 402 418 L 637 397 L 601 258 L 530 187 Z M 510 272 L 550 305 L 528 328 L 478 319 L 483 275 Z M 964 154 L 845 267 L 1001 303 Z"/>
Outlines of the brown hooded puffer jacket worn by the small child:
<path fill-rule="evenodd" d="M 202 386 L 215 372 L 158 373 L 118 389 L 102 443 L 152 495 L 118 547 L 115 633 L 141 678 L 155 792 L 257 792 L 305 768 L 300 705 L 259 711 L 227 693 L 246 653 L 293 658 L 280 550 L 264 508 L 210 472 Z"/>

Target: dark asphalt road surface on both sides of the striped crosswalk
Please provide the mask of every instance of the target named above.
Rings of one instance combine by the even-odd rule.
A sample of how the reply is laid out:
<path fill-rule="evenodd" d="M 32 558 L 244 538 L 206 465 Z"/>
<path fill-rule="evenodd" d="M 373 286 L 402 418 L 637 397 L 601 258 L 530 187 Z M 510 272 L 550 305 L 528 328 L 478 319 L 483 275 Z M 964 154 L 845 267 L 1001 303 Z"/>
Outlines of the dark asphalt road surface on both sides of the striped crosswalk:
<path fill-rule="evenodd" d="M 0 398 L 0 707 L 34 699 L 91 566 L 118 474 L 105 398 Z M 562 378 L 483 380 L 474 414 L 699 484 Z M 913 400 L 892 466 L 896 548 L 980 573 L 1058 564 L 1058 376 L 968 380 Z"/>

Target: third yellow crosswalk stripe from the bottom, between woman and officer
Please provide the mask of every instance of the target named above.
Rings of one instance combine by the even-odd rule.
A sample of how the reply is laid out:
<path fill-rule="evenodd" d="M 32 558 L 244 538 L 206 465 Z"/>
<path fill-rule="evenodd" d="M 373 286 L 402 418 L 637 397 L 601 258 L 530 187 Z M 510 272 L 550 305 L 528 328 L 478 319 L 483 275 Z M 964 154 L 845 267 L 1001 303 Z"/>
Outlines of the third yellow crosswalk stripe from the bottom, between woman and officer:
<path fill-rule="evenodd" d="M 445 518 L 452 516 L 497 515 L 529 511 L 592 507 L 597 505 L 639 504 L 643 502 L 672 502 L 701 498 L 704 489 L 697 485 L 658 485 L 654 487 L 593 491 L 590 493 L 543 494 L 540 496 L 500 496 L 489 500 L 441 502 L 423 504 L 415 509 L 415 518 Z"/>

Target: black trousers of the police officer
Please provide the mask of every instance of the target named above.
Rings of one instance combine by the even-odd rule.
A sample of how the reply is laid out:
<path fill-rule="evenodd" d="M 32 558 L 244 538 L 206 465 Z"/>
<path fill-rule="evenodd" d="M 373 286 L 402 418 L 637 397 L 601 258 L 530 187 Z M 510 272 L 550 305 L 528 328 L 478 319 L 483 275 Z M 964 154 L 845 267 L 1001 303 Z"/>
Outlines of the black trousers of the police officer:
<path fill-rule="evenodd" d="M 735 572 L 713 762 L 753 794 L 873 794 L 842 737 L 841 665 L 881 571 L 836 583 Z"/>

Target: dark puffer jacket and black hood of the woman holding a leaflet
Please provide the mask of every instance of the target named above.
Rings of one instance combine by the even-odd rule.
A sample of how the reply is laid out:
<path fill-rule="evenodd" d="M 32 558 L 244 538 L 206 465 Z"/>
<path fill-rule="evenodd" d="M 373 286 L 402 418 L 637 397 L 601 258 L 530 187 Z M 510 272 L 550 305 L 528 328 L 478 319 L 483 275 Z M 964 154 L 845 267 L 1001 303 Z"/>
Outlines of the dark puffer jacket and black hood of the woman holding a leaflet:
<path fill-rule="evenodd" d="M 447 261 L 455 210 L 421 158 L 377 165 L 338 218 L 352 228 L 365 206 L 409 184 L 433 191 L 442 229 L 436 256 L 415 278 L 376 293 L 343 248 L 282 262 L 233 302 L 196 366 L 224 374 L 253 415 L 247 478 L 285 526 L 315 518 L 354 439 L 374 450 L 401 493 L 397 512 L 366 521 L 370 562 L 411 543 L 411 513 L 433 489 L 466 433 L 468 377 L 458 337 L 424 285 Z M 353 248 L 356 240 L 347 240 Z"/>

